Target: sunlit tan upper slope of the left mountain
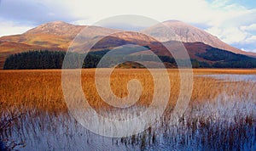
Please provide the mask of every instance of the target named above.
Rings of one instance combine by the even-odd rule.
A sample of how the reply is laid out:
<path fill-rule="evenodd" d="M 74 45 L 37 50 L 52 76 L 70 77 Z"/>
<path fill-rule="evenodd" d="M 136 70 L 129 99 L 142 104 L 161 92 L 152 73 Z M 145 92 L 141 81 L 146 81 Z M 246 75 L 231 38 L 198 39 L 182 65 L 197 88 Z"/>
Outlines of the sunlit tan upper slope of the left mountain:
<path fill-rule="evenodd" d="M 69 42 L 86 27 L 55 21 L 39 25 L 20 35 L 2 36 L 1 42 L 18 42 L 27 45 L 37 45 L 44 48 L 66 49 Z"/>

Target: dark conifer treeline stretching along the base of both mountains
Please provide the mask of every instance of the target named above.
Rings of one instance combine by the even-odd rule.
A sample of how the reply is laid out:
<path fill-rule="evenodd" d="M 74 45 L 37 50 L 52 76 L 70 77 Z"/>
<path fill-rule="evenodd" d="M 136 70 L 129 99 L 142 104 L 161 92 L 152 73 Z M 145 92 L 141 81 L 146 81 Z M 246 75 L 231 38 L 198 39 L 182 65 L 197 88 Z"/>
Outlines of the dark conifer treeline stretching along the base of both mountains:
<path fill-rule="evenodd" d="M 131 51 L 134 51 L 131 49 Z M 98 65 L 102 68 L 113 67 L 116 63 L 119 68 L 145 68 L 143 64 L 136 63 L 137 60 L 152 63 L 164 62 L 166 68 L 177 68 L 178 61 L 182 66 L 186 66 L 188 60 L 175 60 L 169 56 L 152 55 L 128 55 L 128 52 L 122 53 L 122 50 L 110 55 L 105 55 L 109 50 L 90 52 L 86 55 L 81 53 L 66 53 L 63 51 L 29 51 L 26 53 L 16 53 L 6 59 L 3 66 L 4 70 L 32 70 L 32 69 L 61 69 L 65 56 L 68 57 L 64 64 L 65 68 L 96 68 Z M 227 52 L 221 49 L 208 49 L 206 53 L 198 53 L 197 56 L 212 61 L 212 64 L 191 59 L 193 68 L 256 68 L 256 59 L 245 55 Z M 103 57 L 104 56 L 104 57 Z M 160 60 L 159 60 L 160 59 Z M 105 61 L 104 61 L 105 60 Z M 129 60 L 129 61 L 125 61 Z M 154 65 L 153 65 L 154 66 Z M 158 66 L 155 66 L 158 68 Z"/>

